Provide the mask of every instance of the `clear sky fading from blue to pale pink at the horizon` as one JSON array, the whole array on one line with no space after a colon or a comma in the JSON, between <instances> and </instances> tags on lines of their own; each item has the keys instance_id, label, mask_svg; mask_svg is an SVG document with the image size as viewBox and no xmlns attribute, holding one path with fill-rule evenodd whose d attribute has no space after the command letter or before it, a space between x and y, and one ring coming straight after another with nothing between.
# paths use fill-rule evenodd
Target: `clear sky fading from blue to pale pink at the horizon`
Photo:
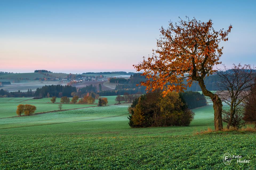
<instances>
[{"instance_id":1,"label":"clear sky fading from blue to pale pink at the horizon","mask_svg":"<svg viewBox=\"0 0 256 170\"><path fill-rule=\"evenodd\" d=\"M233 26L221 61L255 64L256 1L0 1L0 71L132 71L178 17ZM221 68L222 66L218 66Z\"/></svg>"}]
</instances>

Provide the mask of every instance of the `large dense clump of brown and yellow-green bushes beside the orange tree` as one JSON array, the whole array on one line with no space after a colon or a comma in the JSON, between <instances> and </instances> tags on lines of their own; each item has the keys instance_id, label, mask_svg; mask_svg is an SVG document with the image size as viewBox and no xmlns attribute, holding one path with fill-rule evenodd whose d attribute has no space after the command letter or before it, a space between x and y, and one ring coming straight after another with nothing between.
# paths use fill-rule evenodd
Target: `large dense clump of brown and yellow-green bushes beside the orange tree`
<instances>
[{"instance_id":1,"label":"large dense clump of brown and yellow-green bushes beside the orange tree","mask_svg":"<svg viewBox=\"0 0 256 170\"><path fill-rule=\"evenodd\" d=\"M194 113L176 92L165 97L161 91L141 95L128 110L131 127L188 126L194 118Z\"/></svg>"}]
</instances>

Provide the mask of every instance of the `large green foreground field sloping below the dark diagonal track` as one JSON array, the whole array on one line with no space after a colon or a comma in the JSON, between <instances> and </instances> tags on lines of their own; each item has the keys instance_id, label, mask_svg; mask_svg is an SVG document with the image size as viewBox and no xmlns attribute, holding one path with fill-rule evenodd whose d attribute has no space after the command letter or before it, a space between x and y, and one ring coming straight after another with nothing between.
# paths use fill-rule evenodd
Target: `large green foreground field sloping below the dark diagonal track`
<instances>
[{"instance_id":1,"label":"large green foreground field sloping below the dark diagonal track","mask_svg":"<svg viewBox=\"0 0 256 170\"><path fill-rule=\"evenodd\" d=\"M255 169L255 134L196 135L213 108L193 111L188 127L130 128L127 105L0 119L0 169Z\"/></svg>"}]
</instances>

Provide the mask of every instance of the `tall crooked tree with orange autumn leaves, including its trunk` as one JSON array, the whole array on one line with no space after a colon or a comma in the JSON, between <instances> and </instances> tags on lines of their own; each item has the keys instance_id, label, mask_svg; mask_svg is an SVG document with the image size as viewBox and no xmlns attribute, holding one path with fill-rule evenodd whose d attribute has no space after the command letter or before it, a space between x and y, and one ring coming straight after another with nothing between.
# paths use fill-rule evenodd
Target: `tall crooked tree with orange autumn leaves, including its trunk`
<instances>
[{"instance_id":1,"label":"tall crooked tree with orange autumn leaves, including its trunk","mask_svg":"<svg viewBox=\"0 0 256 170\"><path fill-rule=\"evenodd\" d=\"M215 130L222 130L221 99L206 89L204 77L216 72L214 65L221 64L223 47L219 43L228 40L232 26L227 31L215 31L211 19L201 22L186 18L170 22L167 29L162 27L152 57L143 57L141 63L133 66L147 78L140 85L146 86L147 91L162 89L164 96L171 91L183 92L194 81L198 82L203 94L213 101Z\"/></svg>"}]
</instances>

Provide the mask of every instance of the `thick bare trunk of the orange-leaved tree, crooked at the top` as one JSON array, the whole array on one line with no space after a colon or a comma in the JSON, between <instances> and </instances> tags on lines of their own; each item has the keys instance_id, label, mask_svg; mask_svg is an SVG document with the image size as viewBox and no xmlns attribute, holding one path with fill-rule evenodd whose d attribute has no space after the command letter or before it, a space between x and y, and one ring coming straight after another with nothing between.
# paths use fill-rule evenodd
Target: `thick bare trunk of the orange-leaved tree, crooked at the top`
<instances>
[{"instance_id":1,"label":"thick bare trunk of the orange-leaved tree, crooked at the top","mask_svg":"<svg viewBox=\"0 0 256 170\"><path fill-rule=\"evenodd\" d=\"M205 96L208 96L213 101L213 109L214 109L214 128L215 131L219 131L223 129L222 124L222 102L217 94L213 94L209 90L206 89L205 83L203 79L198 80L199 85L202 89L202 92Z\"/></svg>"}]
</instances>

